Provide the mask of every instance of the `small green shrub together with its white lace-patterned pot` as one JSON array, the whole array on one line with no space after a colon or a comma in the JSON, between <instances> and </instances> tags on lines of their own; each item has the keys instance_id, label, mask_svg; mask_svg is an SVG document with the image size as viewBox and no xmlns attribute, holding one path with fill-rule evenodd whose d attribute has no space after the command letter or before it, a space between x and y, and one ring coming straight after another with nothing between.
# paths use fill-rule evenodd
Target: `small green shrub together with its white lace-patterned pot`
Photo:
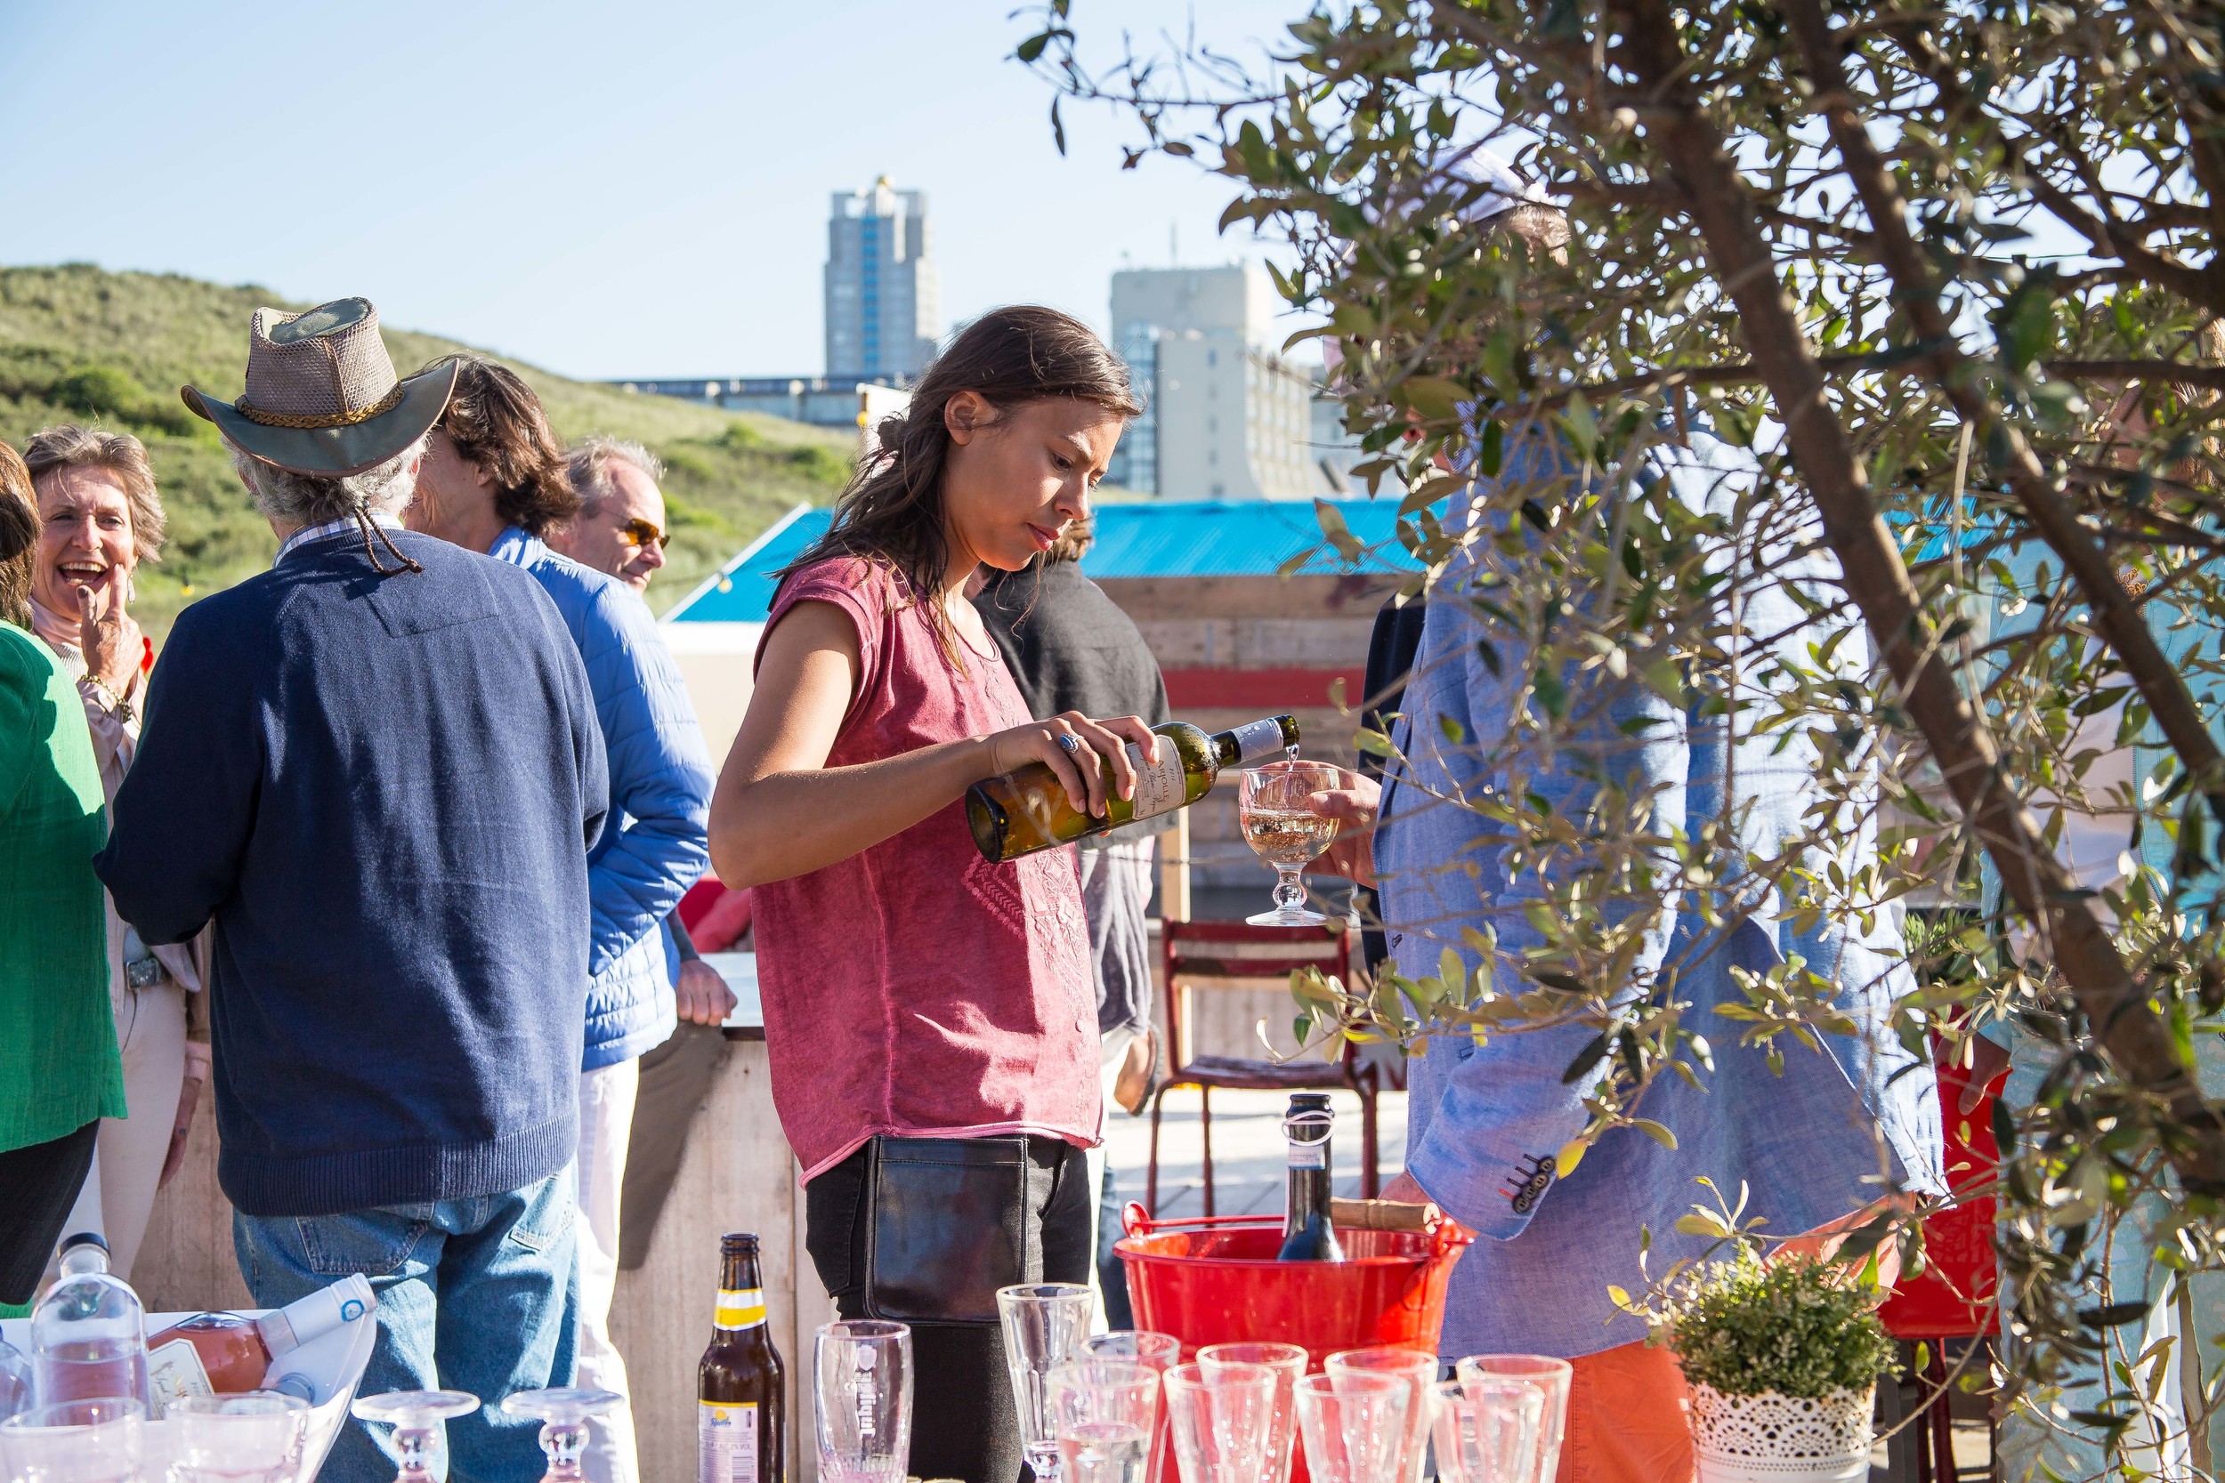
<instances>
[{"instance_id":1,"label":"small green shrub together with its white lace-patterned pot","mask_svg":"<svg viewBox=\"0 0 2225 1483\"><path fill-rule=\"evenodd\" d=\"M1893 1341L1878 1292L1811 1256L1695 1270L1658 1338L1691 1385L1700 1483L1862 1483Z\"/></svg>"}]
</instances>

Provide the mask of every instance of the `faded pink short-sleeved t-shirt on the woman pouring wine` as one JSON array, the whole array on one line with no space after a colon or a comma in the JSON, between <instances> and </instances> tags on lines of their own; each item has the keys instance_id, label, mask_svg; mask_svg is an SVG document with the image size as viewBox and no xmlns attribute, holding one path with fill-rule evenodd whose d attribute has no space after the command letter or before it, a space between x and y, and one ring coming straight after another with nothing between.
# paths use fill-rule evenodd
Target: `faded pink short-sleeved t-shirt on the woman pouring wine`
<instances>
[{"instance_id":1,"label":"faded pink short-sleeved t-shirt on the woman pouring wine","mask_svg":"<svg viewBox=\"0 0 2225 1483\"><path fill-rule=\"evenodd\" d=\"M797 603L832 603L857 625L857 696L828 767L1030 718L999 654L961 640L959 671L901 594L888 567L830 558L772 603L768 636ZM1097 1143L1097 996L1072 849L992 865L961 798L752 900L772 1103L803 1178L874 1134Z\"/></svg>"}]
</instances>

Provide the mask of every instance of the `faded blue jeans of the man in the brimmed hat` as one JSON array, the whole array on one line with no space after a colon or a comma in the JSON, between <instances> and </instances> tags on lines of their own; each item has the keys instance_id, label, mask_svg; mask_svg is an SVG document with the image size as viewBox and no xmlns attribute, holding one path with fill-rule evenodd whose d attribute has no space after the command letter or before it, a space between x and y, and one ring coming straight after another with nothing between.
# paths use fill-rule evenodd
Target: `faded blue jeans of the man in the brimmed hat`
<instances>
[{"instance_id":1,"label":"faded blue jeans of the man in the brimmed hat","mask_svg":"<svg viewBox=\"0 0 2225 1483\"><path fill-rule=\"evenodd\" d=\"M378 1294L378 1347L356 1394L465 1390L481 1399L447 1423L449 1483L538 1483L538 1432L503 1396L570 1385L574 1174L436 1205L338 1216L231 1216L231 1245L263 1307L363 1272ZM392 1483L387 1427L340 1427L323 1483Z\"/></svg>"}]
</instances>

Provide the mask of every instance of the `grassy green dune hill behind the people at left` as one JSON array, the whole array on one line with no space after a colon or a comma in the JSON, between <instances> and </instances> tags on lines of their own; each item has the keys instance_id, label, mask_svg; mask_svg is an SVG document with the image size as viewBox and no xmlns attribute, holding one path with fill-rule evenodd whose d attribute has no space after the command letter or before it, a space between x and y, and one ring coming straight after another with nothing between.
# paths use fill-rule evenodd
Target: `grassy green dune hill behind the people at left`
<instances>
[{"instance_id":1,"label":"grassy green dune hill behind the people at left","mask_svg":"<svg viewBox=\"0 0 2225 1483\"><path fill-rule=\"evenodd\" d=\"M140 567L134 614L154 634L198 594L269 565L276 543L254 511L216 429L178 402L191 382L240 391L247 322L269 289L220 287L174 273L109 273L87 265L0 269L0 438L16 447L49 422L100 422L147 442L169 545ZM409 376L465 345L380 325L394 367ZM728 556L799 500L825 505L850 474L854 436L781 418L632 396L510 362L541 394L565 440L636 438L668 467L672 563L650 587L656 609L683 598Z\"/></svg>"}]
</instances>

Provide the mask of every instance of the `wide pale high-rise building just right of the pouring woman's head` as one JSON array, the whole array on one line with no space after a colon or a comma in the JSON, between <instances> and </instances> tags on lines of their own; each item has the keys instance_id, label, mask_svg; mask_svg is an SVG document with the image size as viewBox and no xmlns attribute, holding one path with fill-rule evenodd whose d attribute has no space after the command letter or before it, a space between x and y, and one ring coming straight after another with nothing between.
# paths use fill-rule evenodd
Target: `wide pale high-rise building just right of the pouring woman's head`
<instances>
[{"instance_id":1,"label":"wide pale high-rise building just right of the pouring woman's head","mask_svg":"<svg viewBox=\"0 0 2225 1483\"><path fill-rule=\"evenodd\" d=\"M1313 449L1315 378L1273 347L1266 269L1112 273L1112 349L1144 400L1106 478L1177 500L1335 494Z\"/></svg>"}]
</instances>

